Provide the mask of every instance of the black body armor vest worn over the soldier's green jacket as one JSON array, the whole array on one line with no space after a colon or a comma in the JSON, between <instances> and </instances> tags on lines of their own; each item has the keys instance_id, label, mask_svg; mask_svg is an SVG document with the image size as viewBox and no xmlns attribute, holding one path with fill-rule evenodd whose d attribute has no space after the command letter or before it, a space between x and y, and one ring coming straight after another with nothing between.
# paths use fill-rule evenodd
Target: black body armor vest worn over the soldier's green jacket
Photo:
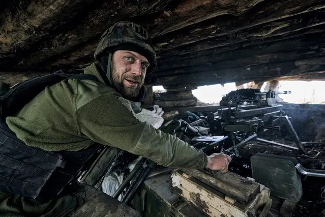
<instances>
[{"instance_id":1,"label":"black body armor vest worn over the soldier's green jacket","mask_svg":"<svg viewBox=\"0 0 325 217\"><path fill-rule=\"evenodd\" d=\"M68 78L98 80L94 75L65 74L60 70L19 83L0 97L0 192L47 202L76 180L101 151L99 144L76 152L44 151L25 145L6 124L6 117L20 111L47 86Z\"/></svg>"}]
</instances>

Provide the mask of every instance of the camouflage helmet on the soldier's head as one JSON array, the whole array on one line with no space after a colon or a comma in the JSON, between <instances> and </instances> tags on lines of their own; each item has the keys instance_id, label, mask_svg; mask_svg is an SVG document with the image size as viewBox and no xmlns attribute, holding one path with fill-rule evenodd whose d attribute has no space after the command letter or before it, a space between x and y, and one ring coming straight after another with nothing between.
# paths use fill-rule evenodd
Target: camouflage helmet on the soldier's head
<instances>
[{"instance_id":1,"label":"camouflage helmet on the soldier's head","mask_svg":"<svg viewBox=\"0 0 325 217\"><path fill-rule=\"evenodd\" d=\"M128 44L143 51L143 56L150 62L147 74L151 73L157 66L156 52L147 30L133 22L120 21L106 30L100 38L94 57L100 61L102 55Z\"/></svg>"}]
</instances>

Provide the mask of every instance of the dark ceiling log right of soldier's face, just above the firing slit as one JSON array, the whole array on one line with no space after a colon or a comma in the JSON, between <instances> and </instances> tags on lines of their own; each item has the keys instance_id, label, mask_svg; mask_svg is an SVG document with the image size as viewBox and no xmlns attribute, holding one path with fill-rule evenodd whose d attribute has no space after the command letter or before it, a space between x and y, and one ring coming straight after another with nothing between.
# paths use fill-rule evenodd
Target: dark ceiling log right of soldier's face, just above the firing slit
<instances>
[{"instance_id":1,"label":"dark ceiling log right of soldier's face, just above the firing slit","mask_svg":"<svg viewBox=\"0 0 325 217\"><path fill-rule=\"evenodd\" d=\"M300 60L307 58L317 58L323 56L321 52L321 47L325 45L319 41L319 37L325 37L324 35L317 35L317 38L309 39L314 40L304 42L302 39L296 40L284 40L277 43L264 44L263 46L251 46L245 49L230 50L219 52L216 50L202 52L200 57L178 57L178 61L175 58L165 59L170 62L160 62L158 68L156 69L156 74L159 76L164 76L167 73L164 71L170 71L171 69L179 69L188 66L197 65L211 65L215 64L218 68L234 68L238 66L245 66L248 64L260 64L269 62L279 62L279 61L289 61L289 60ZM292 41L296 43L292 43ZM317 46L315 46L315 42ZM319 43L318 43L319 42ZM283 46L281 46L283 45ZM217 64L216 64L217 63ZM232 65L231 65L232 64Z\"/></svg>"}]
</instances>

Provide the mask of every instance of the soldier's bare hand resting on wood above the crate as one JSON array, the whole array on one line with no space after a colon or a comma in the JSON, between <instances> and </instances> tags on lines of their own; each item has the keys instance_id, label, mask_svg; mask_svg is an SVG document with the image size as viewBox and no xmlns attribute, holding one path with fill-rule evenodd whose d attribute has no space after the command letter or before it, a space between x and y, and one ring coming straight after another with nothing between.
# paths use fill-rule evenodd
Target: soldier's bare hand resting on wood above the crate
<instances>
[{"instance_id":1,"label":"soldier's bare hand resting on wood above the crate","mask_svg":"<svg viewBox=\"0 0 325 217\"><path fill-rule=\"evenodd\" d=\"M208 156L208 164L206 164L206 168L227 172L230 161L231 157L229 155L224 153L214 153Z\"/></svg>"}]
</instances>

